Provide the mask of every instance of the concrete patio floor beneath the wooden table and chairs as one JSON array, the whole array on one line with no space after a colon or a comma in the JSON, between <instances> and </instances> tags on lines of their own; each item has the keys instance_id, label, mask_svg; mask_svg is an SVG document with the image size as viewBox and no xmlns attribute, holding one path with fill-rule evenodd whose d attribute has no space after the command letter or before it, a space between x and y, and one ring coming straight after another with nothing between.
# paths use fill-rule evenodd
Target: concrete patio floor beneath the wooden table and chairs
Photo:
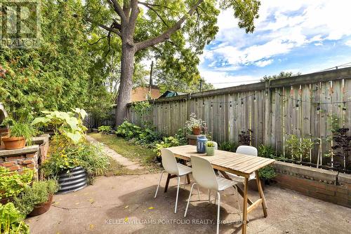
<instances>
[{"instance_id":1,"label":"concrete patio floor beneath the wooden table and chairs","mask_svg":"<svg viewBox=\"0 0 351 234\"><path fill-rule=\"evenodd\" d=\"M190 186L180 189L174 214L176 179L171 179L172 187L164 193L164 177L154 199L158 179L159 174L98 177L93 186L55 195L48 212L26 221L31 233L216 233L217 205L208 204L207 191L201 190L202 201L192 202L184 218ZM221 193L220 233L241 233L235 229L239 224L233 223L240 216L232 191ZM256 192L249 192L249 198L258 198ZM192 200L197 200L197 193L193 194ZM276 186L266 186L265 198L268 217L263 217L260 207L251 212L248 233L350 233L351 209L347 207Z\"/></svg>"}]
</instances>

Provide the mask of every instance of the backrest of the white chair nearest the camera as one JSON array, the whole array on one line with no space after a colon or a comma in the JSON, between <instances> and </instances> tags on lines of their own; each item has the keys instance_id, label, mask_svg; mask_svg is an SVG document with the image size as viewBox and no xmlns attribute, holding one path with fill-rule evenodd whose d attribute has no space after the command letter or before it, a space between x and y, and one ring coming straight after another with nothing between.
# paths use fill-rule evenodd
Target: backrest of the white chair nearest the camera
<instances>
[{"instance_id":1,"label":"backrest of the white chair nearest the camera","mask_svg":"<svg viewBox=\"0 0 351 234\"><path fill-rule=\"evenodd\" d=\"M218 181L215 171L208 160L198 156L191 156L192 160L192 177L203 188L209 188L218 191Z\"/></svg>"}]
</instances>

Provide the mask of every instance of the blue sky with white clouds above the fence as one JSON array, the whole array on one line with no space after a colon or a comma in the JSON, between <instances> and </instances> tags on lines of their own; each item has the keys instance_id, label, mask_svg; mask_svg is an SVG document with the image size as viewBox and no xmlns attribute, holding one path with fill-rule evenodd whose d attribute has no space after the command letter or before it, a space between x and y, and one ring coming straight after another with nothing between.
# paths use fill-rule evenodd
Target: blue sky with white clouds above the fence
<instances>
[{"instance_id":1,"label":"blue sky with white clouds above the fence","mask_svg":"<svg viewBox=\"0 0 351 234\"><path fill-rule=\"evenodd\" d=\"M347 64L350 9L351 0L261 0L253 34L239 29L232 10L222 11L216 39L200 57L200 75L224 88L280 71L308 74Z\"/></svg>"}]
</instances>

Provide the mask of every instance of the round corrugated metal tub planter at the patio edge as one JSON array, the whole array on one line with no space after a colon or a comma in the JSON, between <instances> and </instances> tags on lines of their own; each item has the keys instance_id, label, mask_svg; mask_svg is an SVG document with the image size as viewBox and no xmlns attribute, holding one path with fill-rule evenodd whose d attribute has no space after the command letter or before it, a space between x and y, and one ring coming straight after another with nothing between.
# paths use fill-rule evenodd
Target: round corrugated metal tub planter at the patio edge
<instances>
[{"instance_id":1,"label":"round corrugated metal tub planter at the patio edge","mask_svg":"<svg viewBox=\"0 0 351 234\"><path fill-rule=\"evenodd\" d=\"M88 185L88 173L83 167L74 167L68 173L65 171L58 175L58 184L58 194L79 191Z\"/></svg>"}]
</instances>

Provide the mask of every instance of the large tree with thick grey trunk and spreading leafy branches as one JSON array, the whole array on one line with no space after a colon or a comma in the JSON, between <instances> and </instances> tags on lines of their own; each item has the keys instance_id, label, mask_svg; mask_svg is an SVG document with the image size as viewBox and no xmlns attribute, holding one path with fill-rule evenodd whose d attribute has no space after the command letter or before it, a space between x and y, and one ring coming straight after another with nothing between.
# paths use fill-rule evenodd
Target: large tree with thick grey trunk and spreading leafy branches
<instances>
[{"instance_id":1,"label":"large tree with thick grey trunk and spreading leafy branches","mask_svg":"<svg viewBox=\"0 0 351 234\"><path fill-rule=\"evenodd\" d=\"M253 20L258 18L258 0L86 0L84 18L93 26L107 30L107 37L121 40L121 78L117 97L116 123L126 118L126 104L131 100L135 57L143 57L145 50L154 53L167 41L173 48L194 55L216 36L218 7L233 8L238 26L253 32ZM164 44L165 45L165 44ZM172 57L182 57L174 50Z\"/></svg>"}]
</instances>

